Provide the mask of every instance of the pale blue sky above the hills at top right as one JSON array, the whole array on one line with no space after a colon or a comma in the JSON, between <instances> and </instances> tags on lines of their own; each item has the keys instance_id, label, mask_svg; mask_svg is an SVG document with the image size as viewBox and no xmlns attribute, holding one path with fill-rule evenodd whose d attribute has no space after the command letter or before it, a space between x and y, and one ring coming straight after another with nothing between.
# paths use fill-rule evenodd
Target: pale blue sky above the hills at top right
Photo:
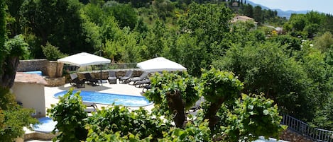
<instances>
[{"instance_id":1,"label":"pale blue sky above the hills at top right","mask_svg":"<svg viewBox=\"0 0 333 142\"><path fill-rule=\"evenodd\" d=\"M279 8L283 11L319 11L333 14L332 0L250 0L268 8Z\"/></svg>"}]
</instances>

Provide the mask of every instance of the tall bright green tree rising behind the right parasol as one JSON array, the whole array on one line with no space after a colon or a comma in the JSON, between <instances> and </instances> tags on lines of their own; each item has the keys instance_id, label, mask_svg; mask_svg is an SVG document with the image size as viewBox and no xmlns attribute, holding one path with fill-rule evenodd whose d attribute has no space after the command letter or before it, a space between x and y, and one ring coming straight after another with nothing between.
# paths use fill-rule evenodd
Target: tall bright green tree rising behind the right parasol
<instances>
[{"instance_id":1,"label":"tall bright green tree rising behind the right parasol","mask_svg":"<svg viewBox=\"0 0 333 142\"><path fill-rule=\"evenodd\" d=\"M180 31L195 39L192 45L199 47L201 59L191 64L209 69L211 62L229 48L226 39L231 17L231 10L222 4L190 4L189 11L180 18ZM200 70L192 71L192 75L200 76Z\"/></svg>"}]
</instances>

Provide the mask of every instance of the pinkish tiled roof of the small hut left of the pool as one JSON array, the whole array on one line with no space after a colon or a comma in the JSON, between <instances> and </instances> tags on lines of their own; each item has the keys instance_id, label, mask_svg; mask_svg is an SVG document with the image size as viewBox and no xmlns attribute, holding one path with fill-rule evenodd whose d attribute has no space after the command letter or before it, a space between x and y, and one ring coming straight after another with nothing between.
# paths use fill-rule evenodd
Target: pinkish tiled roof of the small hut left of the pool
<instances>
[{"instance_id":1,"label":"pinkish tiled roof of the small hut left of the pool","mask_svg":"<svg viewBox=\"0 0 333 142\"><path fill-rule=\"evenodd\" d=\"M36 83L36 84L48 84L43 76L39 76L38 74L28 74L17 72L15 76L16 83Z\"/></svg>"}]
</instances>

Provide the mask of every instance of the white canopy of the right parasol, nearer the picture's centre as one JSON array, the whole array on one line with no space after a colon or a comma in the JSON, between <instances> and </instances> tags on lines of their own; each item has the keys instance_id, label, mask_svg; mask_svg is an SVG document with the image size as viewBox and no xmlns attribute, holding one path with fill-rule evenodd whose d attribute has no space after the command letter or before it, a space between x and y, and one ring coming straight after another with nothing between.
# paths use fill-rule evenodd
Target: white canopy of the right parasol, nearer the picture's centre
<instances>
[{"instance_id":1,"label":"white canopy of the right parasol, nearer the picture's centre","mask_svg":"<svg viewBox=\"0 0 333 142\"><path fill-rule=\"evenodd\" d=\"M157 57L142 61L136 65L140 69L146 72L157 72L157 71L186 71L186 68L181 64L174 61L170 61L163 57Z\"/></svg>"}]
</instances>

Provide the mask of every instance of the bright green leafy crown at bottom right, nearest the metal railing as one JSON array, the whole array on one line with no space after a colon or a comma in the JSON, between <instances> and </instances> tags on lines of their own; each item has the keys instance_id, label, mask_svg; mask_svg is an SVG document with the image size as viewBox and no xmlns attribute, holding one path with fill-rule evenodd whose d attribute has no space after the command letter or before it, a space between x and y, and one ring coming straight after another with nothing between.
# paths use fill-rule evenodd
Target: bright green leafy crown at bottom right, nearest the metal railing
<instances>
[{"instance_id":1,"label":"bright green leafy crown at bottom right, nearest the metal railing","mask_svg":"<svg viewBox=\"0 0 333 142\"><path fill-rule=\"evenodd\" d=\"M223 141L255 141L259 136L279 138L286 129L273 100L263 95L242 94L226 114L221 126Z\"/></svg>"}]
</instances>

